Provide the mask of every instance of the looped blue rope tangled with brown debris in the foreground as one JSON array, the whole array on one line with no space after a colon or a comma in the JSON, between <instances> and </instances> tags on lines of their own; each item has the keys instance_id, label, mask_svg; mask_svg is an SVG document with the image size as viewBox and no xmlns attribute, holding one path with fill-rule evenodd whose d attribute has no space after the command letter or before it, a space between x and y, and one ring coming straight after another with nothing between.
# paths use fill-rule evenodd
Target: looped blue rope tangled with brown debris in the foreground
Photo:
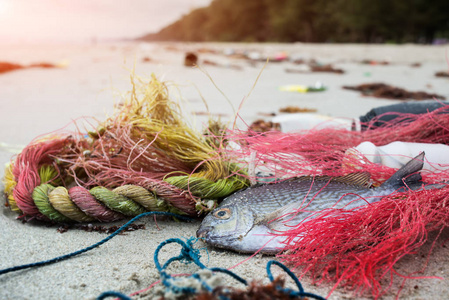
<instances>
[{"instance_id":1,"label":"looped blue rope tangled with brown debris in the foreground","mask_svg":"<svg viewBox=\"0 0 449 300\"><path fill-rule=\"evenodd\" d=\"M154 261L159 271L161 282L164 287L155 291L155 294L163 299L292 299L308 297L310 299L323 300L324 298L304 291L298 278L286 266L277 261L271 260L267 263L266 271L270 284L263 285L253 281L251 284L247 280L224 268L206 267L201 261L198 249L193 247L194 239L190 238L186 242L181 239L168 239L158 246L154 253ZM177 243L182 249L180 255L172 257L163 265L159 262L158 254L165 245ZM175 261L194 263L200 268L199 271L186 277L173 277L167 272L167 268ZM289 277L293 279L297 290L284 288L284 281L280 277L274 279L271 273L271 266L276 265L281 268ZM248 289L239 289L234 286L224 285L217 274L224 274L240 282Z\"/></svg>"}]
</instances>

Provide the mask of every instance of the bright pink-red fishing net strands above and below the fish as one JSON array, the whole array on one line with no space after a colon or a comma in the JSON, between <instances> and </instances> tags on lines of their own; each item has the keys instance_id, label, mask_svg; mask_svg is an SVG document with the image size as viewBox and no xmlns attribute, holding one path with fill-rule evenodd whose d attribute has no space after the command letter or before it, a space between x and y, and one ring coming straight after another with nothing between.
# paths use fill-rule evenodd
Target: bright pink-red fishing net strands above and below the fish
<instances>
[{"instance_id":1,"label":"bright pink-red fishing net strands above and below the fish","mask_svg":"<svg viewBox=\"0 0 449 300\"><path fill-rule=\"evenodd\" d=\"M263 170L271 180L278 180L369 172L372 184L378 186L396 170L370 162L353 147L364 141L376 146L393 141L449 145L448 113L449 106L443 106L423 115L402 114L379 128L362 132L330 128L295 134L234 131L227 138L245 145L229 151L234 157L251 157L249 174ZM369 128L370 124L366 125ZM423 181L447 182L448 166L449 161L435 172L421 171ZM393 278L422 278L401 274L396 263L429 243L430 232L439 236L449 225L448 201L449 187L443 187L408 190L352 210L329 208L279 232L286 241L278 257L315 283L331 282L334 289L346 286L378 298L388 291ZM422 265L421 271L426 261Z\"/></svg>"}]
</instances>

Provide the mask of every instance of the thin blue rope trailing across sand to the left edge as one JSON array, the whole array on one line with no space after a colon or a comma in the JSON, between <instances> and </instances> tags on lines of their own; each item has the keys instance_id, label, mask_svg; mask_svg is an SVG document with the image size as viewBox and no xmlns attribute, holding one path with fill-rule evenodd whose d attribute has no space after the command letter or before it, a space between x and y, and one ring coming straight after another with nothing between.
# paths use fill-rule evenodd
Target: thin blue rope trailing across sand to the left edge
<instances>
[{"instance_id":1,"label":"thin blue rope trailing across sand to the left edge","mask_svg":"<svg viewBox=\"0 0 449 300\"><path fill-rule=\"evenodd\" d=\"M20 266L15 266L15 267L3 269L3 270L0 270L0 275L6 274L6 273L10 273L10 272L14 272L14 271L23 270L23 269L29 269L29 268L41 267L41 266L53 264L53 263L56 263L56 262L59 262L59 261L63 261L63 260L69 259L69 258L74 257L76 255L82 254L84 252L90 251L90 250L92 250L94 248L97 248L97 247L103 245L104 243L106 243L107 241L109 241L110 239L112 239L113 237L118 235L120 232L125 230L126 227L128 227L129 225L131 225L132 223L134 223L138 219L143 218L145 216L150 216L150 215L172 216L172 217L175 217L175 218L178 218L178 219L181 219L181 220L186 220L186 221L191 221L192 220L189 217L185 217L185 216L181 216L181 215L173 214L173 213L169 213L169 212L161 212L161 211L146 212L146 213L140 214L140 215L134 217L133 219L129 220L125 225L123 225L122 227L117 229L114 233L112 233L111 235L107 236L106 238L104 238L103 240L99 241L98 243L93 244L92 246L86 247L84 249L81 249L81 250L78 250L78 251L75 251L75 252L72 252L72 253L69 253L69 254L66 254L66 255L58 256L58 257L55 257L53 259L49 259L49 260L44 260L44 261L40 261L40 262L36 262L36 263L31 263L31 264L20 265Z\"/></svg>"}]
</instances>

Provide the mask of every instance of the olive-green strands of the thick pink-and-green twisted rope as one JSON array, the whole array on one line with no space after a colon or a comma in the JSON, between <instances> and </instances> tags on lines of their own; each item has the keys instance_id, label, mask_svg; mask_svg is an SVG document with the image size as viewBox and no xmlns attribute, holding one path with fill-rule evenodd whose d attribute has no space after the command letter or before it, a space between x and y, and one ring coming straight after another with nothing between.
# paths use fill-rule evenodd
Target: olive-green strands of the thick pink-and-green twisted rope
<instances>
[{"instance_id":1,"label":"olive-green strands of the thick pink-and-green twisted rope","mask_svg":"<svg viewBox=\"0 0 449 300\"><path fill-rule=\"evenodd\" d=\"M40 170L42 182L54 178L55 170L48 166ZM45 181L44 181L45 180ZM225 197L236 190L246 187L246 180L242 177L232 176L220 179L216 182L195 176L173 176L164 180L168 184L179 189L189 191L192 195L200 197L198 207L199 212L207 212L216 205L216 200ZM109 209L122 213L125 216L137 216L147 211L173 211L180 213L164 200L159 199L153 192L136 185L124 185L109 190L105 187L94 187L90 194ZM93 218L85 215L73 203L67 190L60 186L55 188L50 184L37 186L32 198L39 211L55 222L89 222Z\"/></svg>"}]
</instances>

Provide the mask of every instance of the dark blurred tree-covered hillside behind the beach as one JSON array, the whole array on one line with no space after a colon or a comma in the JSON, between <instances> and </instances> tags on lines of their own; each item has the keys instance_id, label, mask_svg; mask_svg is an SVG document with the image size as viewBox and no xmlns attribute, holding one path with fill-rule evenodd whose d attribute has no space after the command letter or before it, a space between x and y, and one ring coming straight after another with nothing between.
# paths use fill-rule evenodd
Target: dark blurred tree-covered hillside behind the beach
<instances>
[{"instance_id":1,"label":"dark blurred tree-covered hillside behind the beach","mask_svg":"<svg viewBox=\"0 0 449 300\"><path fill-rule=\"evenodd\" d=\"M449 0L214 0L144 40L430 43Z\"/></svg>"}]
</instances>

